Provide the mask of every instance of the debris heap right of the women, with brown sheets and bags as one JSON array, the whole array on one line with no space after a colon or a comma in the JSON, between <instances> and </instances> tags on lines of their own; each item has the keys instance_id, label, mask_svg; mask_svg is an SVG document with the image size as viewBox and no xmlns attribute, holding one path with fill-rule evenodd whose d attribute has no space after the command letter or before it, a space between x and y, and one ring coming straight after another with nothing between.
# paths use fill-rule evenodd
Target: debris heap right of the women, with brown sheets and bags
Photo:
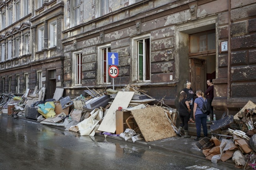
<instances>
[{"instance_id":1,"label":"debris heap right of the women, with brown sheets and bags","mask_svg":"<svg viewBox=\"0 0 256 170\"><path fill-rule=\"evenodd\" d=\"M210 127L212 138L196 143L211 162L232 159L238 168L256 169L256 105L252 101L235 116L223 114Z\"/></svg>"}]
</instances>

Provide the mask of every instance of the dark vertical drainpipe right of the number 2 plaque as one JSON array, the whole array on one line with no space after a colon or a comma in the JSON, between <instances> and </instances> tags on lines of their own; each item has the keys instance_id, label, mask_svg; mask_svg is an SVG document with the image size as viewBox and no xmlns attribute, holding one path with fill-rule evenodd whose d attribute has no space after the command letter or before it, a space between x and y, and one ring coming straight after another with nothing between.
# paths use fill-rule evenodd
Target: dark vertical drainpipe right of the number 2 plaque
<instances>
[{"instance_id":1,"label":"dark vertical drainpipe right of the number 2 plaque","mask_svg":"<svg viewBox=\"0 0 256 170\"><path fill-rule=\"evenodd\" d=\"M231 0L228 0L227 102L231 97ZM227 115L229 111L227 108Z\"/></svg>"}]
</instances>

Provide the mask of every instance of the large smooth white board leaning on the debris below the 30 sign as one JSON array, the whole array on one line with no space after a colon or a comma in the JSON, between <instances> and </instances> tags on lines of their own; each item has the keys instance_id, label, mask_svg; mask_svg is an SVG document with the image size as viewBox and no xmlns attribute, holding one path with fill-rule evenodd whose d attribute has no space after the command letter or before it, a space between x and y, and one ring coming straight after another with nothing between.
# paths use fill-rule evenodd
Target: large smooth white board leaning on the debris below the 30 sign
<instances>
[{"instance_id":1,"label":"large smooth white board leaning on the debris below the 30 sign","mask_svg":"<svg viewBox=\"0 0 256 170\"><path fill-rule=\"evenodd\" d=\"M132 100L134 92L131 91L118 91L117 96L109 107L98 131L105 131L115 133L116 131L116 110L118 107L127 108Z\"/></svg>"}]
</instances>

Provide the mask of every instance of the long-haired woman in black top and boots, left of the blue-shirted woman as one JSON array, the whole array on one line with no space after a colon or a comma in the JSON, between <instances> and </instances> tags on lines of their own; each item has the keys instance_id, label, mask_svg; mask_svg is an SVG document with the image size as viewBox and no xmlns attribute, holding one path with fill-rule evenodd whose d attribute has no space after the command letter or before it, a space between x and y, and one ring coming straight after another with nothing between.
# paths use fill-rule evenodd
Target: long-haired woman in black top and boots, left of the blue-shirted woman
<instances>
[{"instance_id":1,"label":"long-haired woman in black top and boots, left of the blue-shirted woman","mask_svg":"<svg viewBox=\"0 0 256 170\"><path fill-rule=\"evenodd\" d=\"M191 110L190 110L190 106L189 106L186 96L187 96L187 94L185 92L182 92L180 94L180 98L179 98L179 115L180 115L180 119L182 122L180 124L177 135L181 137L180 132L181 132L182 128L184 127L184 132L185 132L184 137L188 138L188 137L190 137L190 136L188 136L188 120L189 120Z\"/></svg>"}]
</instances>

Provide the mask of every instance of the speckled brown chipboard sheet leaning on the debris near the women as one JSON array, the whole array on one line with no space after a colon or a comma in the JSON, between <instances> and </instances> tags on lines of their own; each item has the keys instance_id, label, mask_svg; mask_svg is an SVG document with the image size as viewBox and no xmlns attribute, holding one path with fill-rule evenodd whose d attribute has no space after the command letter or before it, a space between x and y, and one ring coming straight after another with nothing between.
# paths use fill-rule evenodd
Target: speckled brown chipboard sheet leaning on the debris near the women
<instances>
[{"instance_id":1,"label":"speckled brown chipboard sheet leaning on the debris near the women","mask_svg":"<svg viewBox=\"0 0 256 170\"><path fill-rule=\"evenodd\" d=\"M146 142L176 136L162 107L147 107L131 110Z\"/></svg>"}]
</instances>

